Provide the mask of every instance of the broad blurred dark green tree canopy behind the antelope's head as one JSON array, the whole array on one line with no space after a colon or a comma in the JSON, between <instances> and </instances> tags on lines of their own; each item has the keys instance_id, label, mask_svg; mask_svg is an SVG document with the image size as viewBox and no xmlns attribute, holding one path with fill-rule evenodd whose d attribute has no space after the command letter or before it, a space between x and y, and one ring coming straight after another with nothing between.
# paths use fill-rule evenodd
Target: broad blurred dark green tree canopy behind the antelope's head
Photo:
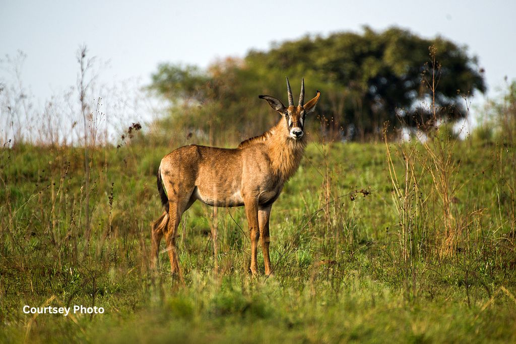
<instances>
[{"instance_id":1,"label":"broad blurred dark green tree canopy behind the antelope's head","mask_svg":"<svg viewBox=\"0 0 516 344\"><path fill-rule=\"evenodd\" d=\"M295 80L304 77L307 95L316 89L322 92L318 113L329 120L332 134L364 139L379 135L386 121L425 129L433 118L428 105L433 96L438 119L466 116L462 96L486 91L482 72L465 46L442 37L426 39L397 27L381 32L365 27L361 33L273 44L243 59L217 61L206 71L162 64L150 88L175 104L175 125L206 133L208 125L224 124L218 132L230 130L246 137L276 120L256 95L284 99L285 75L294 90ZM432 78L437 85L434 94L428 87Z\"/></svg>"}]
</instances>

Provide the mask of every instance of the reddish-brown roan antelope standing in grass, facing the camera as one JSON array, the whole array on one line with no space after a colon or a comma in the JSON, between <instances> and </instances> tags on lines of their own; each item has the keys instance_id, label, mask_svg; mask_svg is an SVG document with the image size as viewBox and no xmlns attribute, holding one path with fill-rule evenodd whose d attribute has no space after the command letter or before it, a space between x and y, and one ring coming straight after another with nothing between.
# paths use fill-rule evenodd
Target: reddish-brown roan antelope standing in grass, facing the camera
<instances>
[{"instance_id":1,"label":"reddish-brown roan antelope standing in grass, facing the camera","mask_svg":"<svg viewBox=\"0 0 516 344\"><path fill-rule=\"evenodd\" d=\"M196 200L214 207L244 206L251 236L251 273L256 275L257 244L261 240L265 274L271 273L269 217L283 185L299 167L307 145L305 116L315 110L320 92L304 103L301 81L299 105L294 106L287 78L288 106L270 95L260 95L282 118L260 136L241 142L236 149L190 144L167 154L157 173L163 214L152 224L152 265L158 260L159 242L165 236L172 274L179 273L175 238L183 212ZM164 187L166 193L164 191Z\"/></svg>"}]
</instances>

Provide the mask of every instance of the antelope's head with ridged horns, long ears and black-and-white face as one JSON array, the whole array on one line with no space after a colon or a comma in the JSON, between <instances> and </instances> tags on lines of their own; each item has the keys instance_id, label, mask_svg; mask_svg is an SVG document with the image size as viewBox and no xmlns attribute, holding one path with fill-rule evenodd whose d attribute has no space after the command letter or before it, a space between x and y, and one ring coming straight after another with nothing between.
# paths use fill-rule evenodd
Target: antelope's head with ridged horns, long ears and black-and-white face
<instances>
[{"instance_id":1,"label":"antelope's head with ridged horns, long ears and black-and-white face","mask_svg":"<svg viewBox=\"0 0 516 344\"><path fill-rule=\"evenodd\" d=\"M288 93L288 106L276 97L270 95L259 95L260 99L265 99L271 108L278 111L281 116L284 117L288 135L294 140L299 140L303 135L304 118L308 113L315 110L315 105L319 100L321 92L317 91L317 95L313 97L308 103L304 103L304 79L301 80L301 94L299 95L299 104L294 106L294 97L292 96L292 89L287 79L287 93Z\"/></svg>"}]
</instances>

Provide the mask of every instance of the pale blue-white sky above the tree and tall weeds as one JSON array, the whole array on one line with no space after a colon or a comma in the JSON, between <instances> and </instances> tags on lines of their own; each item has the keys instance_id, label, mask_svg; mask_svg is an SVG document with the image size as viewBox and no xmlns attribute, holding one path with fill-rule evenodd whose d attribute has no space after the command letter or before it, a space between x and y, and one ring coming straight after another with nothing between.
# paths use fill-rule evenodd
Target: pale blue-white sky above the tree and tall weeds
<instances>
[{"instance_id":1,"label":"pale blue-white sky above the tree and tall weeds","mask_svg":"<svg viewBox=\"0 0 516 344\"><path fill-rule=\"evenodd\" d=\"M273 41L360 31L363 25L438 34L479 58L489 94L516 78L513 1L7 1L0 0L0 57L27 54L23 81L37 99L74 86L77 48L110 61L105 82L140 77L159 62L206 67ZM0 79L6 77L0 71ZM279 80L279 82L283 82ZM477 100L478 101L478 100Z\"/></svg>"}]
</instances>

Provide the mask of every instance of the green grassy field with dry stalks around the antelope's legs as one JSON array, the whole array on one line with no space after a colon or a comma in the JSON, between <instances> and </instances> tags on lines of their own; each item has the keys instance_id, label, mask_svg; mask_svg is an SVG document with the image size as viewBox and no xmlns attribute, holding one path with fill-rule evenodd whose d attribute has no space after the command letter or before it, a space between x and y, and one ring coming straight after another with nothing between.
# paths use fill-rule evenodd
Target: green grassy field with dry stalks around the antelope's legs
<instances>
[{"instance_id":1,"label":"green grassy field with dry stalks around the antelope's legs","mask_svg":"<svg viewBox=\"0 0 516 344\"><path fill-rule=\"evenodd\" d=\"M395 152L407 146L391 149L404 176ZM184 286L170 276L166 253L158 276L148 268L149 224L162 211L154 173L170 148L136 142L95 151L88 249L84 152L29 145L4 151L0 342L516 341L512 146L456 145L460 168L451 180L461 234L447 256L438 254L442 205L421 165L416 174L426 201L406 210L414 216L406 244L385 145L332 144L326 157L321 150L309 145L272 207L272 277L248 273L241 208L219 209L215 273L211 208L196 203L178 243ZM370 194L353 193L362 189ZM24 305L49 299L106 312L23 314Z\"/></svg>"}]
</instances>

